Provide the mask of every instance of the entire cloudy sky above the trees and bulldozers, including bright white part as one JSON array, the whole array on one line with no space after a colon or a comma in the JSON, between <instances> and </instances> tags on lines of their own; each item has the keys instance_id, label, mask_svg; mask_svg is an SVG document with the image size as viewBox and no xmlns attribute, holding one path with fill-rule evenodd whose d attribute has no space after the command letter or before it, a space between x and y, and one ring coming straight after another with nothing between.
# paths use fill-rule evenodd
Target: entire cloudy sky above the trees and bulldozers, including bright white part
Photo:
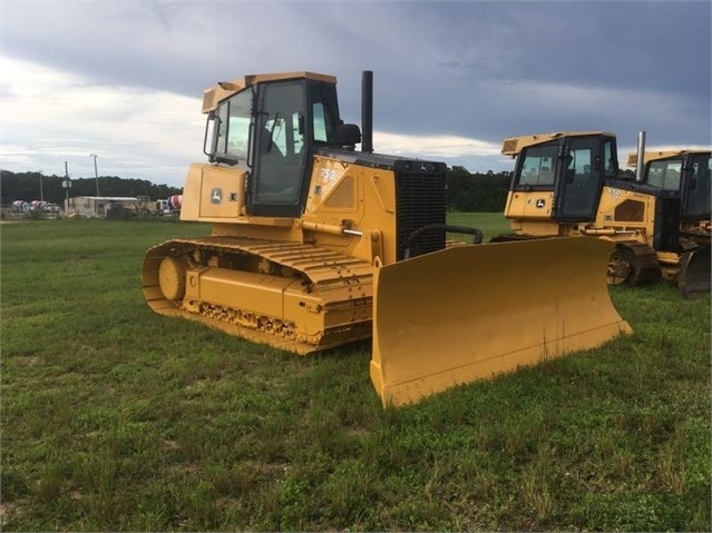
<instances>
[{"instance_id":1,"label":"entire cloudy sky above the trees and bulldozers, including bright white part","mask_svg":"<svg viewBox=\"0 0 712 533\"><path fill-rule=\"evenodd\" d=\"M182 186L204 161L203 90L244 75L339 79L375 151L510 170L514 135L606 130L622 164L709 147L709 0L0 1L0 168Z\"/></svg>"}]
</instances>

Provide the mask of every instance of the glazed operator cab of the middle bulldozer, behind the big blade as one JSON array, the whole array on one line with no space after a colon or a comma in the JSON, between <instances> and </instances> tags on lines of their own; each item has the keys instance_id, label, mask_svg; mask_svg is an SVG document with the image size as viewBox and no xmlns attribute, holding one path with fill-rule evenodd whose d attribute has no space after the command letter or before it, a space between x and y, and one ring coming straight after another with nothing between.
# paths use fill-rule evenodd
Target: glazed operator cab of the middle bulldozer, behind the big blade
<instances>
[{"instance_id":1,"label":"glazed operator cab of the middle bulldozer, behind the big blade","mask_svg":"<svg viewBox=\"0 0 712 533\"><path fill-rule=\"evenodd\" d=\"M517 158L513 193L552 193L552 205L547 206L546 199L537 199L534 215L529 211L528 218L593 220L605 180L617 175L616 141L611 134L550 134L506 139L503 154ZM505 214L510 215L516 216Z\"/></svg>"}]
</instances>

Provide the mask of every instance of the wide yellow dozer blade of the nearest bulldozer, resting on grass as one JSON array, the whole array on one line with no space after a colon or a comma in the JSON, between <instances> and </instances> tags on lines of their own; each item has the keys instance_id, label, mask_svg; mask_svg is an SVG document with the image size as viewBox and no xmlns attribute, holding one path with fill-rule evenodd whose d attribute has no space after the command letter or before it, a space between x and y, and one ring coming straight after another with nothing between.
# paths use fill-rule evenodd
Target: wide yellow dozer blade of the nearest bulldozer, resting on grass
<instances>
[{"instance_id":1,"label":"wide yellow dozer blade of the nearest bulldozer, resting on grass","mask_svg":"<svg viewBox=\"0 0 712 533\"><path fill-rule=\"evenodd\" d=\"M631 326L594 237L453 247L375 275L371 381L383 405L593 348Z\"/></svg>"}]
</instances>

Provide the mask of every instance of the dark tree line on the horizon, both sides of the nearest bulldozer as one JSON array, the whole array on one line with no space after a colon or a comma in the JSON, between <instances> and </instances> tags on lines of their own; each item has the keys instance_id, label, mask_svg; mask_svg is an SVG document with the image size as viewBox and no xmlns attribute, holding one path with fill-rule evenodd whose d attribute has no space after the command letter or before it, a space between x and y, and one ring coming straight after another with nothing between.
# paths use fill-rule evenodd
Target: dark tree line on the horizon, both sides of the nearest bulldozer
<instances>
[{"instance_id":1,"label":"dark tree line on the horizon, both sides of the nearest bulldozer","mask_svg":"<svg viewBox=\"0 0 712 533\"><path fill-rule=\"evenodd\" d=\"M452 211L501 211L505 208L511 172L470 174L465 167L448 168L446 175L446 203ZM41 172L11 172L0 170L0 201L39 200L64 205L66 189L62 176L45 176ZM41 190L40 190L41 187ZM99 176L99 196L148 196L156 200L181 194L181 189L156 185L146 179L126 179L118 176ZM71 180L69 197L97 196L96 178Z\"/></svg>"}]
</instances>

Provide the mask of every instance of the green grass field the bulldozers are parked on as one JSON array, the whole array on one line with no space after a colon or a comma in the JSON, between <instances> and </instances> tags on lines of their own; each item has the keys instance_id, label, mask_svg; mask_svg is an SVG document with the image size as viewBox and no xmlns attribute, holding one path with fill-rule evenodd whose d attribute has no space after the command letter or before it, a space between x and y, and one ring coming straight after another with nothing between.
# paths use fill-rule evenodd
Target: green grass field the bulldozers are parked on
<instances>
[{"instance_id":1,"label":"green grass field the bulldozers are parked on","mask_svg":"<svg viewBox=\"0 0 712 533\"><path fill-rule=\"evenodd\" d=\"M0 226L3 531L710 531L709 297L615 287L633 336L383 409L368 343L148 309L145 250L207 231Z\"/></svg>"}]
</instances>

